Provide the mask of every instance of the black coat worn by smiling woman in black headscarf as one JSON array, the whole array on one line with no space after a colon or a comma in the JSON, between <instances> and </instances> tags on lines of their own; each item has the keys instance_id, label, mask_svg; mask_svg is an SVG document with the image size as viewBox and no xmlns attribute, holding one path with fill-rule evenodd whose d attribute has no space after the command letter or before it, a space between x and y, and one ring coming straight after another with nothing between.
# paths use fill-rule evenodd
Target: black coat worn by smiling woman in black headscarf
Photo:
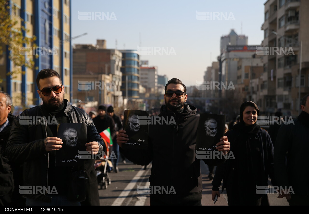
<instances>
[{"instance_id":1,"label":"black coat worn by smiling woman in black headscarf","mask_svg":"<svg viewBox=\"0 0 309 214\"><path fill-rule=\"evenodd\" d=\"M240 129L232 129L226 132L231 145L229 153L233 152L234 157L216 168L212 181L212 190L218 191L223 179L222 191L226 188L229 205L246 205L244 202L246 200L248 203L255 203L256 198L259 197L255 195L255 185L265 187L268 186L268 176L274 179L273 145L267 131L260 128L257 134L248 135L250 146L252 146L252 153L249 157L252 157L252 154L258 157L256 160L252 160L256 164L253 171L253 175L256 176L244 174L243 172L247 170L238 168L240 166L238 162L243 158L239 157L242 153L235 151L235 148L237 148L237 144L244 145L243 143L240 144L240 139L243 137L241 135ZM231 156L229 155L229 157ZM254 198L251 197L252 195Z\"/></svg>"}]
</instances>

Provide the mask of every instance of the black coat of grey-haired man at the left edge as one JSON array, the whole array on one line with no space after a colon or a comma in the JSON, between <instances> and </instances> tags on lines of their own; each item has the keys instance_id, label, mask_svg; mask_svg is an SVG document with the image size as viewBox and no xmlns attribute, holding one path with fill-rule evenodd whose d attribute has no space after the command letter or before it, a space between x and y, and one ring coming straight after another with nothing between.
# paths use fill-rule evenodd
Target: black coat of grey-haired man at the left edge
<instances>
[{"instance_id":1,"label":"black coat of grey-haired man at the left edge","mask_svg":"<svg viewBox=\"0 0 309 214\"><path fill-rule=\"evenodd\" d=\"M7 118L9 125L0 132L0 198L4 195L11 195L14 189L13 171L11 169L11 163L6 157L5 149L13 121L16 117L9 113ZM12 195L8 199L11 199L11 197ZM10 203L10 201L6 201L6 203Z\"/></svg>"}]
</instances>

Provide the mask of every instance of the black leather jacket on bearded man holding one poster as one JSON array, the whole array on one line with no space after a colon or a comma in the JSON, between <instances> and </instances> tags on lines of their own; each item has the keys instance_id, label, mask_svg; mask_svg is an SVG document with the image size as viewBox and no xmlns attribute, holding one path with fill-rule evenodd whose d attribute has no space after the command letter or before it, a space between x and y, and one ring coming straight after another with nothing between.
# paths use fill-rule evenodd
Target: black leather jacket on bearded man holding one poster
<instances>
[{"instance_id":1,"label":"black leather jacket on bearded man holding one poster","mask_svg":"<svg viewBox=\"0 0 309 214\"><path fill-rule=\"evenodd\" d=\"M99 143L99 151L105 150L104 142L88 114L83 109L71 106L66 99L64 99L64 102L66 104L64 113L68 117L68 122L86 123L87 142L96 141ZM19 123L19 117L43 115L42 106L36 106L23 111L13 123L6 146L6 154L10 161L25 162L23 185L26 186L48 186L49 155L51 152L46 152L44 138L52 136L47 136L46 124L21 125ZM93 160L86 160L84 170L88 173L88 181L90 180L90 182L95 183L96 177L92 163ZM44 195L26 196L50 203L50 198Z\"/></svg>"}]
</instances>

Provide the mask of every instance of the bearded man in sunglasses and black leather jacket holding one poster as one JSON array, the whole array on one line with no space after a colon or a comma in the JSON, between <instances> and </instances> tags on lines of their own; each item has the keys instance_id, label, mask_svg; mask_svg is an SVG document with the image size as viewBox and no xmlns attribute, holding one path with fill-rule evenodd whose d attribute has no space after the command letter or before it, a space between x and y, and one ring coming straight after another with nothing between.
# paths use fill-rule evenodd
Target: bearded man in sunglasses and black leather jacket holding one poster
<instances>
[{"instance_id":1,"label":"bearded man in sunglasses and black leather jacket holding one poster","mask_svg":"<svg viewBox=\"0 0 309 214\"><path fill-rule=\"evenodd\" d=\"M64 86L59 74L53 69L44 69L36 78L37 92L43 105L26 109L14 121L7 143L7 154L11 161L25 162L24 183L20 185L39 186L57 190L56 195L44 191L33 192L26 196L26 205L80 205L80 202L69 201L67 198L72 167L55 166L56 151L61 150L64 139L57 138L57 124L86 123L87 143L85 149L97 154L105 145L100 138L93 121L88 114L77 107L71 106L64 99ZM29 125L21 123L22 118L33 118ZM45 117L43 122L35 117ZM53 118L52 120L50 120ZM57 121L53 124L48 121ZM82 204L99 205L97 180L94 160L86 160L82 169L88 174L87 198Z\"/></svg>"}]
</instances>

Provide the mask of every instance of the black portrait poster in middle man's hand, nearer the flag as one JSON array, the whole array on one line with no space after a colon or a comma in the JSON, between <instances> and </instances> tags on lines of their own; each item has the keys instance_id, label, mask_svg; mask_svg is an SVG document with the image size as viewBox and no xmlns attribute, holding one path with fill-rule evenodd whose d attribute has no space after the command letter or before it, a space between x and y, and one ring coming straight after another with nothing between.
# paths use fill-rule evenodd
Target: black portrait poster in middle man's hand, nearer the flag
<instances>
[{"instance_id":1,"label":"black portrait poster in middle man's hand, nearer the flag","mask_svg":"<svg viewBox=\"0 0 309 214\"><path fill-rule=\"evenodd\" d=\"M150 124L150 117L147 111L125 110L124 130L129 136L129 141L123 143L122 148L147 149L148 124Z\"/></svg>"}]
</instances>

